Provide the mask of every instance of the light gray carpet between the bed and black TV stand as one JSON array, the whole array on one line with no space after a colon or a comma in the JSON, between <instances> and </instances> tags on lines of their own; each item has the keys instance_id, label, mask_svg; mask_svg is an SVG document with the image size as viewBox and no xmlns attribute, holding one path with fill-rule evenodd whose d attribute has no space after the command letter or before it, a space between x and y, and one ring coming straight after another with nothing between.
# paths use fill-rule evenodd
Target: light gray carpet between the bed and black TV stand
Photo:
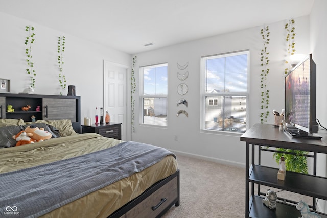
<instances>
[{"instance_id":1,"label":"light gray carpet between the bed and black TV stand","mask_svg":"<svg viewBox=\"0 0 327 218\"><path fill-rule=\"evenodd\" d=\"M245 169L177 156L180 205L163 216L245 217Z\"/></svg>"}]
</instances>

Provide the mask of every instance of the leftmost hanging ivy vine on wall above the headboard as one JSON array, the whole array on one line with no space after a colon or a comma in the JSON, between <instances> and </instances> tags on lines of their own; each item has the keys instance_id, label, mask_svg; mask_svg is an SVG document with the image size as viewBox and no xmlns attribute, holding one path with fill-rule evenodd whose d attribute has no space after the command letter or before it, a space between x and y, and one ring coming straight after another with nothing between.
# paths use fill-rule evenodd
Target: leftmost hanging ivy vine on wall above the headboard
<instances>
[{"instance_id":1,"label":"leftmost hanging ivy vine on wall above the headboard","mask_svg":"<svg viewBox=\"0 0 327 218\"><path fill-rule=\"evenodd\" d=\"M35 78L36 76L35 70L34 70L34 63L32 62L32 44L34 44L34 27L26 26L25 31L28 32L28 36L25 39L25 44L27 45L25 49L25 54L27 56L26 62L28 65L28 68L26 69L27 74L31 76L31 87L35 88Z\"/></svg>"}]
</instances>

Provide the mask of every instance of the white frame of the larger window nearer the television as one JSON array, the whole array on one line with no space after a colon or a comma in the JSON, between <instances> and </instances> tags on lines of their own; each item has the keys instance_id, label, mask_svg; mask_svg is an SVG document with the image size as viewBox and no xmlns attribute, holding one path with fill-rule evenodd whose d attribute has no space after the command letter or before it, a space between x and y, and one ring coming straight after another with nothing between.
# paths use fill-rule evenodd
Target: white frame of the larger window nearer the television
<instances>
[{"instance_id":1,"label":"white frame of the larger window nearer the television","mask_svg":"<svg viewBox=\"0 0 327 218\"><path fill-rule=\"evenodd\" d=\"M204 60L207 58L214 59L218 58L217 56L222 57L231 57L237 55L247 55L247 88L245 92L220 92L220 93L206 93L206 65ZM235 131L228 131L228 130L211 130L205 129L205 99L206 97L226 97L226 96L245 96L246 97L246 124L245 124L245 131L249 129L249 98L250 98L250 51L249 50L240 50L240 51L233 51L227 53L220 53L214 55L206 55L200 58L200 132L204 133L216 133L216 134L226 134L226 135L233 135L233 134L243 134L242 132L235 132ZM214 106L214 104L212 105Z\"/></svg>"}]
</instances>

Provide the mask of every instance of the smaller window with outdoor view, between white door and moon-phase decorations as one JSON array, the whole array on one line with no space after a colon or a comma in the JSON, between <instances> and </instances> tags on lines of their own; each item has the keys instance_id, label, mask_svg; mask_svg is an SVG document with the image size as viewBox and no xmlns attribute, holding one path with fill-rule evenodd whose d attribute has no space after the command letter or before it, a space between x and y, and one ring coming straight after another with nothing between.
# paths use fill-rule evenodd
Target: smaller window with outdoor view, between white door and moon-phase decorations
<instances>
[{"instance_id":1,"label":"smaller window with outdoor view, between white door and moon-phase decorations","mask_svg":"<svg viewBox=\"0 0 327 218\"><path fill-rule=\"evenodd\" d=\"M142 123L167 126L168 65L141 67Z\"/></svg>"}]
</instances>

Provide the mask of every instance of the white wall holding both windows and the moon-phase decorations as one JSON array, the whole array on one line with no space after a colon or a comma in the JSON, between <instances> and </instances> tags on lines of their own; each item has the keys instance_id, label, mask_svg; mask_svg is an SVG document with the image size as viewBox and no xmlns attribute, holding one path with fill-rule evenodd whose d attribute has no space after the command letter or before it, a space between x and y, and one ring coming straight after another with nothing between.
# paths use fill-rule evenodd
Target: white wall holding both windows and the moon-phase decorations
<instances>
[{"instance_id":1,"label":"white wall holding both windows and the moon-phase decorations","mask_svg":"<svg viewBox=\"0 0 327 218\"><path fill-rule=\"evenodd\" d=\"M288 20L270 23L270 74L268 76L268 89L270 90L269 110L281 110L284 107L284 64L286 55L286 31L284 25ZM309 16L295 18L296 24L296 50L299 53L309 53ZM219 28L219 23L213 28ZM138 67L168 63L168 127L151 128L138 125L139 105L135 104L135 133L132 140L156 144L175 152L200 156L218 162L244 165L245 142L240 141L240 134L212 134L200 132L200 57L220 54L238 50L250 50L250 97L249 97L249 126L260 123L260 51L263 41L260 36L261 27L240 30L228 34L209 37L201 40L186 42L169 46L164 49L136 54ZM176 102L177 85L181 83L176 77L177 63L184 65L189 62L189 77L184 83L189 86L189 92L183 97L188 101L186 111L189 117L183 115L176 117L180 109ZM137 75L137 74L136 74ZM138 76L138 75L137 75ZM137 96L138 92L136 93ZM269 117L268 123L273 123ZM178 136L178 141L174 136ZM270 154L270 162L275 164Z\"/></svg>"}]
</instances>

